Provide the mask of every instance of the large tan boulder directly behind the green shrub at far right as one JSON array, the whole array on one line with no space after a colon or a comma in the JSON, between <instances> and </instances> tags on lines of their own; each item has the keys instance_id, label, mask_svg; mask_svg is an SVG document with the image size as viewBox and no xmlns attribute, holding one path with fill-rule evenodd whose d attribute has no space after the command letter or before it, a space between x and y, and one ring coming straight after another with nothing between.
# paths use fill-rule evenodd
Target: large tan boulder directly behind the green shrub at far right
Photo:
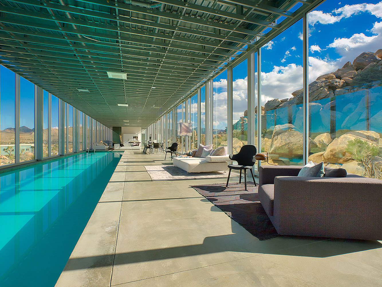
<instances>
[{"instance_id":1,"label":"large tan boulder directly behind the green shrub at far right","mask_svg":"<svg viewBox=\"0 0 382 287\"><path fill-rule=\"evenodd\" d=\"M352 160L351 155L346 152L350 140L361 139L377 146L379 138L380 135L373 131L356 130L347 132L329 143L323 155L323 160L328 163L346 163Z\"/></svg>"}]
</instances>

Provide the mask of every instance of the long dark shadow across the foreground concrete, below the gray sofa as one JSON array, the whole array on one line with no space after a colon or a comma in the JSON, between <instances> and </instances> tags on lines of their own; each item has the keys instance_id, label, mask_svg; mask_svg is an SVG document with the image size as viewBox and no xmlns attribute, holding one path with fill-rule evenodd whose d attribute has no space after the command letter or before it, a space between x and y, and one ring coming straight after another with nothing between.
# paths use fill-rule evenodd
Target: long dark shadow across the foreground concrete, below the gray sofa
<instances>
[{"instance_id":1,"label":"long dark shadow across the foreground concrete, below the gray sofa","mask_svg":"<svg viewBox=\"0 0 382 287\"><path fill-rule=\"evenodd\" d=\"M243 229L243 231L245 230ZM243 231L241 231L241 233ZM254 253L254 255L266 253L325 258L382 247L382 244L378 241L300 238L291 236L282 236L266 241L254 240L253 243L248 244L248 239L243 241L243 238L246 238L246 236L243 236L241 233L206 237L202 244L196 245L117 253L114 258L114 265L181 258L225 251ZM317 241L312 241L315 239L317 239ZM296 244L292 247L290 247L291 240L296 241ZM284 248L282 246L284 246ZM65 270L85 269L89 267L89 263L97 267L110 266L110 262L112 262L110 259L112 258L113 254L70 258Z\"/></svg>"}]
</instances>

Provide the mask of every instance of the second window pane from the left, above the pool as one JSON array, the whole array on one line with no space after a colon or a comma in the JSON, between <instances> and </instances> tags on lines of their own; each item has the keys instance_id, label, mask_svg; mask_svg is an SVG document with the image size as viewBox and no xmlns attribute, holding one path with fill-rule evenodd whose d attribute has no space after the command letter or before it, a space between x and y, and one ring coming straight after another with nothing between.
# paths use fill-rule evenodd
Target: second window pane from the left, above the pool
<instances>
[{"instance_id":1,"label":"second window pane from the left, above the pool","mask_svg":"<svg viewBox=\"0 0 382 287\"><path fill-rule=\"evenodd\" d=\"M34 84L20 77L20 162L34 160Z\"/></svg>"}]
</instances>

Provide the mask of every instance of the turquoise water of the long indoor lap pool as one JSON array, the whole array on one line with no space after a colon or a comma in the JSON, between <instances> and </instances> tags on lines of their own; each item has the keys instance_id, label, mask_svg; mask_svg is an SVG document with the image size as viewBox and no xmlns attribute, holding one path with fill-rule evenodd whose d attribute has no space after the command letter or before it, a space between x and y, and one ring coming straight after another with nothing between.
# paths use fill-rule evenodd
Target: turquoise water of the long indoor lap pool
<instances>
[{"instance_id":1,"label":"turquoise water of the long indoor lap pool","mask_svg":"<svg viewBox=\"0 0 382 287\"><path fill-rule=\"evenodd\" d=\"M0 286L54 286L122 153L0 174Z\"/></svg>"}]
</instances>

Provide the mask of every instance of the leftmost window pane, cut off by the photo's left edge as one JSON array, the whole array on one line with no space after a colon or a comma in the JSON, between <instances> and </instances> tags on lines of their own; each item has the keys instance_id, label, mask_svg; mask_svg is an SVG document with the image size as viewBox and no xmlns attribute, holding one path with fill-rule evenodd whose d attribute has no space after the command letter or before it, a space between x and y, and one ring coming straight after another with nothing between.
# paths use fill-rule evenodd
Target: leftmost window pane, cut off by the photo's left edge
<instances>
[{"instance_id":1,"label":"leftmost window pane, cut off by the photo's left edge","mask_svg":"<svg viewBox=\"0 0 382 287\"><path fill-rule=\"evenodd\" d=\"M0 166L15 163L15 77L0 65Z\"/></svg>"}]
</instances>

